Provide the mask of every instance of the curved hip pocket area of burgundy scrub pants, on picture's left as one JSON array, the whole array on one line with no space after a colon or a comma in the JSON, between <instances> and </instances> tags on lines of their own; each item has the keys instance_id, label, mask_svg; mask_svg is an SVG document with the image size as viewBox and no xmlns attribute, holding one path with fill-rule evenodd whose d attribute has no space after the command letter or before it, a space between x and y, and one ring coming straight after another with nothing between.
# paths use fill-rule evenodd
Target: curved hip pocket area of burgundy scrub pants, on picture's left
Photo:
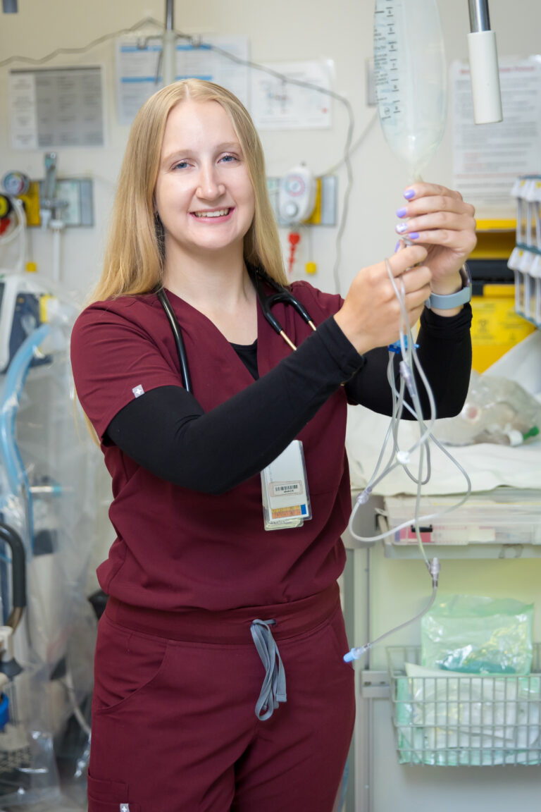
<instances>
[{"instance_id":1,"label":"curved hip pocket area of burgundy scrub pants, on picture's left","mask_svg":"<svg viewBox=\"0 0 541 812\"><path fill-rule=\"evenodd\" d=\"M160 672L166 651L163 637L133 632L102 615L94 659L92 715L112 711L143 691Z\"/></svg>"}]
</instances>

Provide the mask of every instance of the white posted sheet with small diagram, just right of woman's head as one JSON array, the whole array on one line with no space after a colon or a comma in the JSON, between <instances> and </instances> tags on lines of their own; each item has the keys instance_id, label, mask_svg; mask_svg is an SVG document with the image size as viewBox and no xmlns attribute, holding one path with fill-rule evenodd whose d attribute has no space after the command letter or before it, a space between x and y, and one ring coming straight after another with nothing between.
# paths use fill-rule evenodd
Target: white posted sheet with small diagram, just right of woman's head
<instances>
[{"instance_id":1,"label":"white posted sheet with small diagram, just right of woman's head","mask_svg":"<svg viewBox=\"0 0 541 812\"><path fill-rule=\"evenodd\" d=\"M269 70L251 71L251 116L255 127L313 130L331 126L330 62L269 63L262 67Z\"/></svg>"}]
</instances>

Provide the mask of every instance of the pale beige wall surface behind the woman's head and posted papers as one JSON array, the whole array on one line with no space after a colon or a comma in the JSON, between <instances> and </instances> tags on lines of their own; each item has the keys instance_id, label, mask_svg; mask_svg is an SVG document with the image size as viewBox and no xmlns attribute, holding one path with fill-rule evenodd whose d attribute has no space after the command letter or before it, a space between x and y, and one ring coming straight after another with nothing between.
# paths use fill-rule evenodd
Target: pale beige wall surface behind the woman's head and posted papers
<instances>
[{"instance_id":1,"label":"pale beige wall surface behind the woman's head and posted papers","mask_svg":"<svg viewBox=\"0 0 541 812\"><path fill-rule=\"evenodd\" d=\"M237 34L248 37L256 62L332 59L334 90L350 100L355 115L355 138L374 115L366 106L365 60L371 55L373 0L204 0L175 3L175 28L189 33ZM491 0L492 26L500 55L526 55L539 50L539 0ZM466 59L468 14L466 0L440 0L449 63ZM15 54L41 58L61 47L83 47L98 37L128 28L144 17L163 21L164 0L20 0L17 15L0 15L0 61ZM422 43L419 42L419 47ZM104 149L59 151L60 175L89 175L95 180L96 226L63 235L62 270L69 287L87 290L97 278L114 181L127 138L118 125L114 93L114 41L97 45L87 54L67 54L48 65L102 64L105 67L106 139ZM10 67L24 67L15 62ZM0 67L0 172L25 171L43 176L43 154L11 149L7 119L8 67ZM452 183L450 122L436 158L424 175ZM280 175L304 160L316 174L341 158L346 116L334 104L333 127L320 132L264 132L269 175ZM379 125L368 132L353 157L354 188L341 253L341 291L345 292L359 266L377 261L393 250L394 211L401 205L407 171L385 144ZM346 177L339 173L340 201ZM341 209L341 207L340 207ZM316 283L333 290L334 228L314 228L313 255L319 263ZM52 240L33 230L34 258L50 273ZM303 259L301 249L300 259Z\"/></svg>"}]
</instances>

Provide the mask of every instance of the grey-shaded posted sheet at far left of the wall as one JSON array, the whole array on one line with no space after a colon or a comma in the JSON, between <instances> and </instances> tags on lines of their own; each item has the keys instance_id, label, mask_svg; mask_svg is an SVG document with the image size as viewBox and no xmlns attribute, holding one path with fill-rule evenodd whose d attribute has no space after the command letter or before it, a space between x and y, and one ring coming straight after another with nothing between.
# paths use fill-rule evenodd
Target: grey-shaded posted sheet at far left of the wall
<instances>
[{"instance_id":1,"label":"grey-shaded posted sheet at far left of the wall","mask_svg":"<svg viewBox=\"0 0 541 812\"><path fill-rule=\"evenodd\" d=\"M101 67L10 71L11 146L104 145Z\"/></svg>"}]
</instances>

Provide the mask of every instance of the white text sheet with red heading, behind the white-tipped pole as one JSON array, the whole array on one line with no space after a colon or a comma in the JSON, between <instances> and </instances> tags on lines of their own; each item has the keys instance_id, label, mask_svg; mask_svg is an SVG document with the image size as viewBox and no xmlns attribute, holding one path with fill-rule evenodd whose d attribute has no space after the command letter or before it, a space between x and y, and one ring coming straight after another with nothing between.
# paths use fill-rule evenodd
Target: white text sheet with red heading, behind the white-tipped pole
<instances>
[{"instance_id":1,"label":"white text sheet with red heading, behind the white-tipped pole","mask_svg":"<svg viewBox=\"0 0 541 812\"><path fill-rule=\"evenodd\" d=\"M467 64L453 63L451 87L454 188L478 215L514 218L514 180L541 168L541 57L500 60L499 123L474 124Z\"/></svg>"}]
</instances>

